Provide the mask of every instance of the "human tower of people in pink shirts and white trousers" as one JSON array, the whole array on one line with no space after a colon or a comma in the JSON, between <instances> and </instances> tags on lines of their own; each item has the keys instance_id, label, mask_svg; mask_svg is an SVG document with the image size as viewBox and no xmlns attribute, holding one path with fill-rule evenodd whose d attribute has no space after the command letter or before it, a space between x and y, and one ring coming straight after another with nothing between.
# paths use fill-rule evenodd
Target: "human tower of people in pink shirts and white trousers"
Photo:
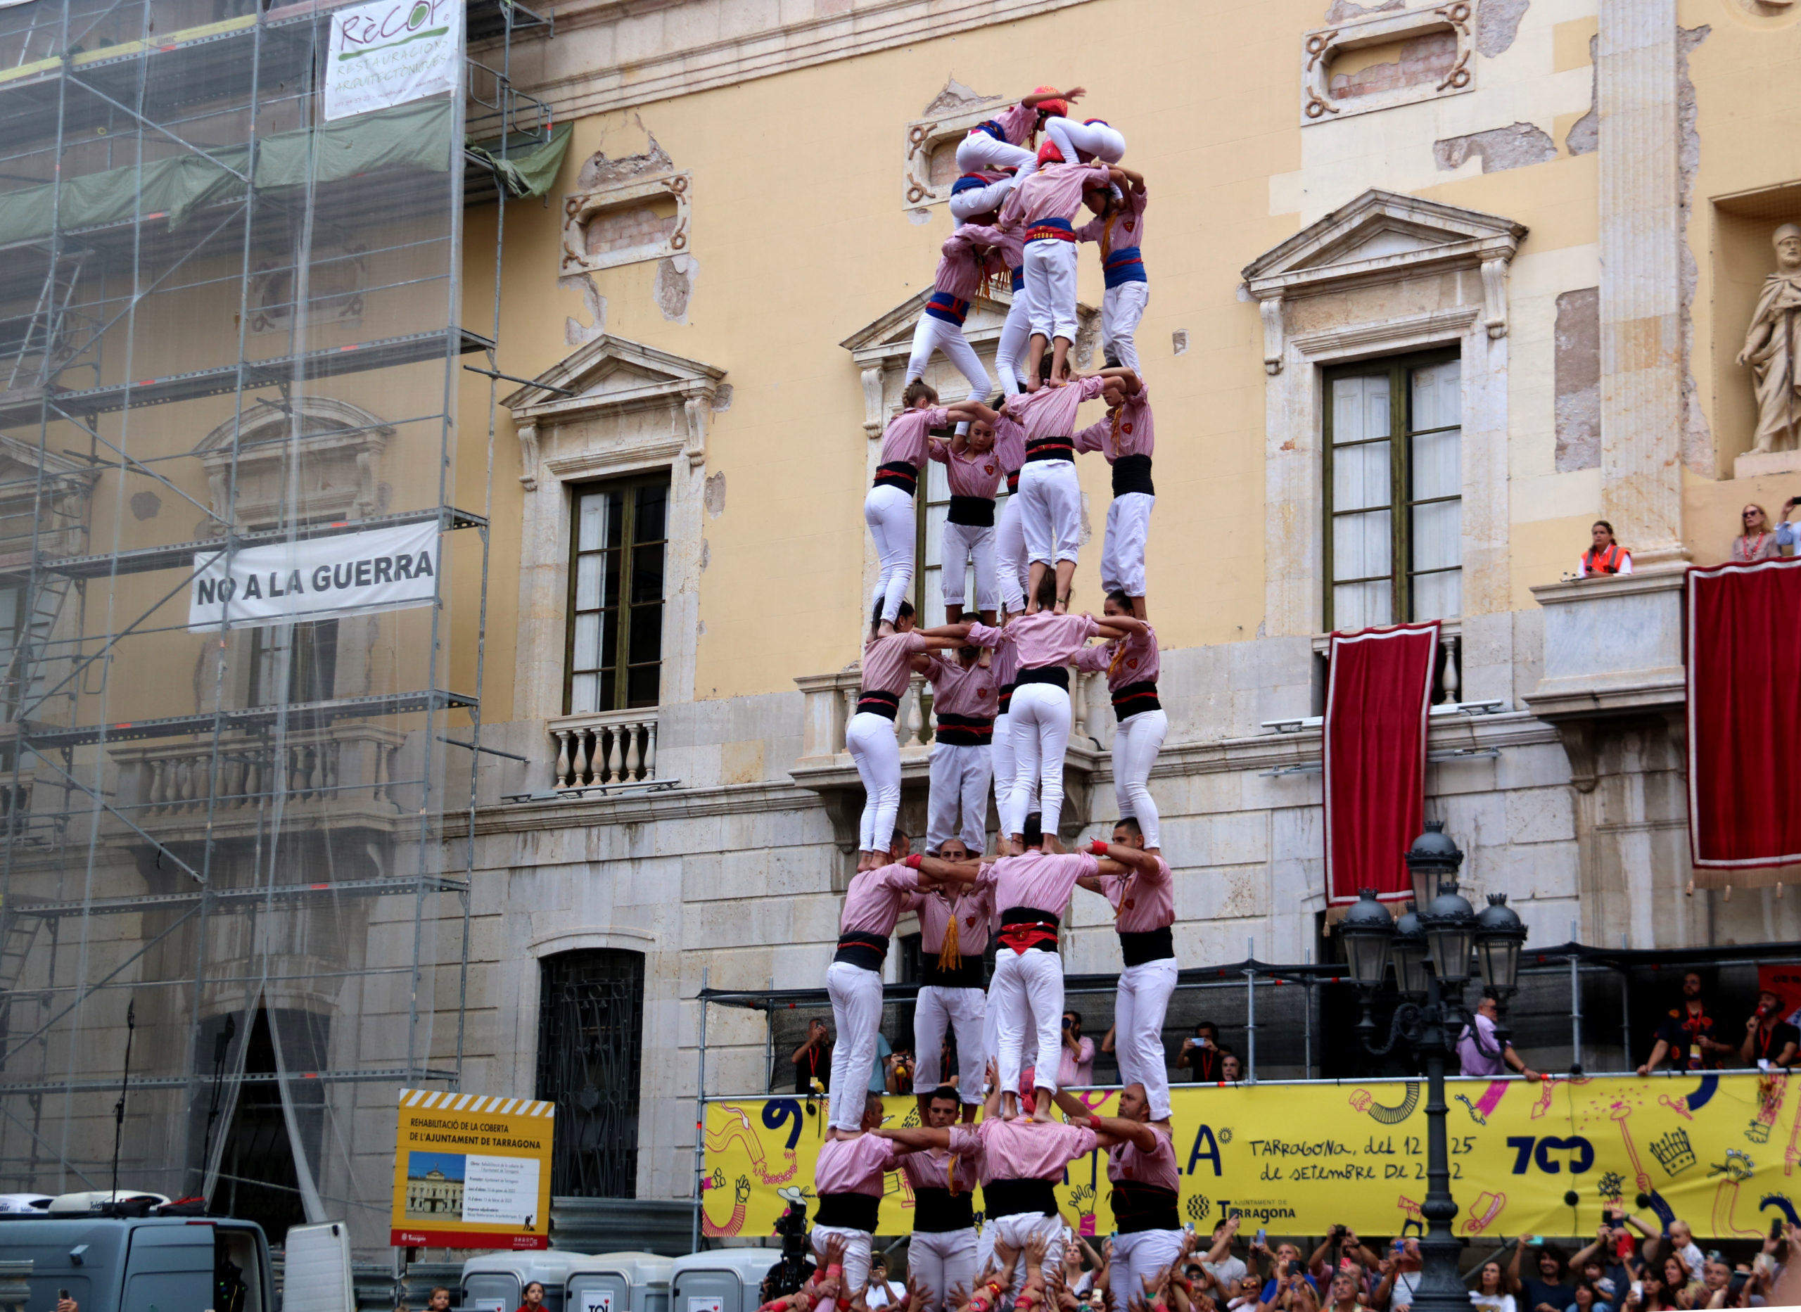
<instances>
[{"instance_id":1,"label":"human tower of people in pink shirts and white trousers","mask_svg":"<svg viewBox=\"0 0 1801 1312\"><path fill-rule=\"evenodd\" d=\"M964 171L951 189L956 229L944 243L913 337L902 410L882 434L881 468L864 520L881 578L863 648L863 686L846 743L864 786L857 873L845 894L827 990L837 1022L830 1128L821 1145L814 1247L821 1281L809 1307L861 1290L877 1227L882 1175L902 1170L913 1188L910 1267L929 1307L967 1301L987 1312L1010 1283L1016 1298L1055 1280L1063 1220L1052 1186L1064 1166L1102 1146L1118 1226L1117 1290L1136 1296L1144 1276L1183 1245L1176 1215L1163 1011L1176 986L1172 878L1145 788L1167 718L1156 698L1156 632L1145 614L1145 533L1154 490L1154 428L1135 333L1149 283L1145 184L1120 166L1126 139L1100 119L1079 121L1081 86L1041 86L958 146ZM1077 227L1086 211L1086 221ZM1106 367L1072 369L1081 243L1099 247L1106 275ZM971 302L1000 279L1012 304L996 351L1000 394L969 342ZM969 396L940 405L922 374L935 351L969 380ZM1084 401L1106 414L1077 427ZM1081 488L1077 452L1100 452L1113 470L1100 580L1102 617L1070 608ZM913 580L915 506L926 461L946 466L942 590L949 623L919 630L906 592ZM996 526L1001 479L1007 504ZM965 619L965 572L974 563L974 619ZM1100 644L1090 644L1102 639ZM1070 666L1104 669L1118 729L1113 786L1120 819L1111 842L1066 853L1063 756L1070 738ZM910 677L933 686L937 736L926 853L895 839L900 750L895 714ZM989 786L1000 835L985 853ZM1118 1118L1090 1116L1057 1087L1063 959L1057 930L1077 887L1113 907L1120 972L1115 1046L1126 1091ZM882 1015L882 961L902 912L920 918L913 1092L920 1128L886 1130L868 1094ZM998 939L992 986L982 957ZM940 1085L946 1029L958 1071ZM1052 1118L1052 1103L1066 1119ZM985 1114L976 1125L976 1109ZM980 1238L973 1191L983 1195ZM991 1256L1028 1253L1010 1281ZM983 1283L978 1285L978 1272ZM1010 1299L1012 1301L1012 1299ZM1023 1305L1023 1303L1021 1303Z\"/></svg>"}]
</instances>

